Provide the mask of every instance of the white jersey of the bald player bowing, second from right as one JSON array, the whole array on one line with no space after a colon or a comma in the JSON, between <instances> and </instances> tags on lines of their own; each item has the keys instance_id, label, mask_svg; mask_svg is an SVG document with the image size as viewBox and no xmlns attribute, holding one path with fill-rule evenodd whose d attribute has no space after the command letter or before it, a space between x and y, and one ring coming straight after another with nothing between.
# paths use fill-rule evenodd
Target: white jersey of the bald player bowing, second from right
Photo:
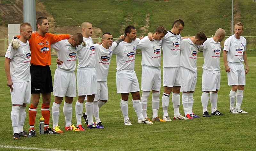
<instances>
[{"instance_id":1,"label":"white jersey of the bald player bowing, second from right","mask_svg":"<svg viewBox=\"0 0 256 151\"><path fill-rule=\"evenodd\" d=\"M199 46L203 49L204 65L203 69L210 72L220 72L220 42L216 42L213 38L207 38L203 45Z\"/></svg>"}]
</instances>

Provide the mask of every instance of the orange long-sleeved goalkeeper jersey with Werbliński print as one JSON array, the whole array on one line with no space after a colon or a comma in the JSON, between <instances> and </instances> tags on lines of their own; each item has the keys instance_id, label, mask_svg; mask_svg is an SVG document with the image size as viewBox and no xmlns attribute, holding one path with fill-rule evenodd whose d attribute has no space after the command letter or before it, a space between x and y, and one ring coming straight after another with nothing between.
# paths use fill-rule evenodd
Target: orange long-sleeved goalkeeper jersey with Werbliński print
<instances>
[{"instance_id":1,"label":"orange long-sleeved goalkeeper jersey with Werbli\u0144ski print","mask_svg":"<svg viewBox=\"0 0 256 151\"><path fill-rule=\"evenodd\" d=\"M17 36L18 39L20 35ZM63 39L68 39L69 35L60 34L54 35L52 33L46 33L45 36L39 35L37 32L32 33L29 41L29 47L31 51L30 64L40 66L50 66L51 61L51 43L58 42Z\"/></svg>"}]
</instances>

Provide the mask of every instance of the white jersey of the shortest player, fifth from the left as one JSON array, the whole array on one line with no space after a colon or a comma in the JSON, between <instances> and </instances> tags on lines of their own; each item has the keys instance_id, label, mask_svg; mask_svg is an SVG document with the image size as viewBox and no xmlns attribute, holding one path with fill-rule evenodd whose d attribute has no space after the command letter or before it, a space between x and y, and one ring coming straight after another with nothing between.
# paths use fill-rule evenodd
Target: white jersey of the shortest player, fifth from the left
<instances>
[{"instance_id":1,"label":"white jersey of the shortest player, fifth from the left","mask_svg":"<svg viewBox=\"0 0 256 151\"><path fill-rule=\"evenodd\" d=\"M110 60L112 57L112 52L116 48L116 42L112 43L112 46L108 49L104 48L102 45L95 44L96 52L96 74L97 81L107 81L108 69Z\"/></svg>"}]
</instances>

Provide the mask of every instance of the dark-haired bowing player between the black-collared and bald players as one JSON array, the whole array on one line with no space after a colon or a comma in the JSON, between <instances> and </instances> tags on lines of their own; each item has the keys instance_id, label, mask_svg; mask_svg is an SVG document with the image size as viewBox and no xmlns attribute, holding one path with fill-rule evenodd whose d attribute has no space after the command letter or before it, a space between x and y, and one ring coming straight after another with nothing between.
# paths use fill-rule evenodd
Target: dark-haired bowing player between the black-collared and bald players
<instances>
[{"instance_id":1,"label":"dark-haired bowing player between the black-collared and bald players","mask_svg":"<svg viewBox=\"0 0 256 151\"><path fill-rule=\"evenodd\" d=\"M204 41L206 40L207 37L204 32L198 32L194 38L188 38L181 41L181 100L185 117L188 119L200 118L200 116L197 116L192 112L194 103L193 94L197 81L196 60L198 46L203 45Z\"/></svg>"}]
</instances>

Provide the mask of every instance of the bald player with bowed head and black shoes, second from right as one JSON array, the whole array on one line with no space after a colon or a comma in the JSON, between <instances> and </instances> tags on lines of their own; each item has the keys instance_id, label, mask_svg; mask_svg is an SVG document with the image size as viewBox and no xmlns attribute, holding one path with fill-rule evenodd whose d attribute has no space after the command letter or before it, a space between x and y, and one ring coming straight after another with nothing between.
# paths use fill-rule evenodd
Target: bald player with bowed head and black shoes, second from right
<instances>
[{"instance_id":1,"label":"bald player with bowed head and black shoes, second from right","mask_svg":"<svg viewBox=\"0 0 256 151\"><path fill-rule=\"evenodd\" d=\"M199 49L203 49L204 53L202 76L203 93L201 96L203 117L225 115L217 110L218 90L220 90L220 42L224 39L225 35L225 30L219 28L213 37L207 38L204 44L199 46ZM209 115L207 110L209 98L212 106L211 115Z\"/></svg>"}]
</instances>

